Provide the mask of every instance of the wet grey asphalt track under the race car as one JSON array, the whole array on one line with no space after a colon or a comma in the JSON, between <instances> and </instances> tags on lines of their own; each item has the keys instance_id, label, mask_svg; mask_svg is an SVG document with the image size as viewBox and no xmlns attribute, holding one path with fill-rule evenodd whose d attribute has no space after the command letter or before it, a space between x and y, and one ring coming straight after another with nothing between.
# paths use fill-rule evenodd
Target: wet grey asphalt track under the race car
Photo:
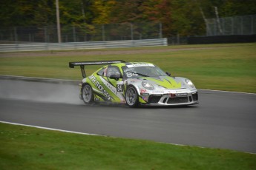
<instances>
[{"instance_id":1,"label":"wet grey asphalt track under the race car","mask_svg":"<svg viewBox=\"0 0 256 170\"><path fill-rule=\"evenodd\" d=\"M0 79L0 120L256 153L256 95L200 90L199 98L183 107L85 106L72 84Z\"/></svg>"}]
</instances>

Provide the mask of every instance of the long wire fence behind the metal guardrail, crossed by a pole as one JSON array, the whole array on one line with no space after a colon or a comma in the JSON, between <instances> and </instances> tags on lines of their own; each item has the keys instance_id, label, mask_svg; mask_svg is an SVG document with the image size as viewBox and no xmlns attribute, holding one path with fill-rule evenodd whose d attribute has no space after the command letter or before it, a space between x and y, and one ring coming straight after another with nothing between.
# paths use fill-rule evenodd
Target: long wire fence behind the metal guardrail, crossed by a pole
<instances>
[{"instance_id":1,"label":"long wire fence behind the metal guardrail, crossed by a pole","mask_svg":"<svg viewBox=\"0 0 256 170\"><path fill-rule=\"evenodd\" d=\"M103 25L62 25L62 42L122 41L162 38L160 23L121 23ZM0 27L0 44L56 43L56 26Z\"/></svg>"}]
</instances>

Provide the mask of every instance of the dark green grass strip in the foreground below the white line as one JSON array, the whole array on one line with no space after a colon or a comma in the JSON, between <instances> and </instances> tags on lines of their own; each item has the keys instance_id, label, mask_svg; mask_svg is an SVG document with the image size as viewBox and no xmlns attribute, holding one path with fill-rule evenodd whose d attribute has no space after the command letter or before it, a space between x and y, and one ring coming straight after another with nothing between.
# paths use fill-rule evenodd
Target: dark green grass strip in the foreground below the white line
<instances>
[{"instance_id":1,"label":"dark green grass strip in the foreground below the white line","mask_svg":"<svg viewBox=\"0 0 256 170\"><path fill-rule=\"evenodd\" d=\"M256 154L0 123L1 169L256 169Z\"/></svg>"}]
</instances>

